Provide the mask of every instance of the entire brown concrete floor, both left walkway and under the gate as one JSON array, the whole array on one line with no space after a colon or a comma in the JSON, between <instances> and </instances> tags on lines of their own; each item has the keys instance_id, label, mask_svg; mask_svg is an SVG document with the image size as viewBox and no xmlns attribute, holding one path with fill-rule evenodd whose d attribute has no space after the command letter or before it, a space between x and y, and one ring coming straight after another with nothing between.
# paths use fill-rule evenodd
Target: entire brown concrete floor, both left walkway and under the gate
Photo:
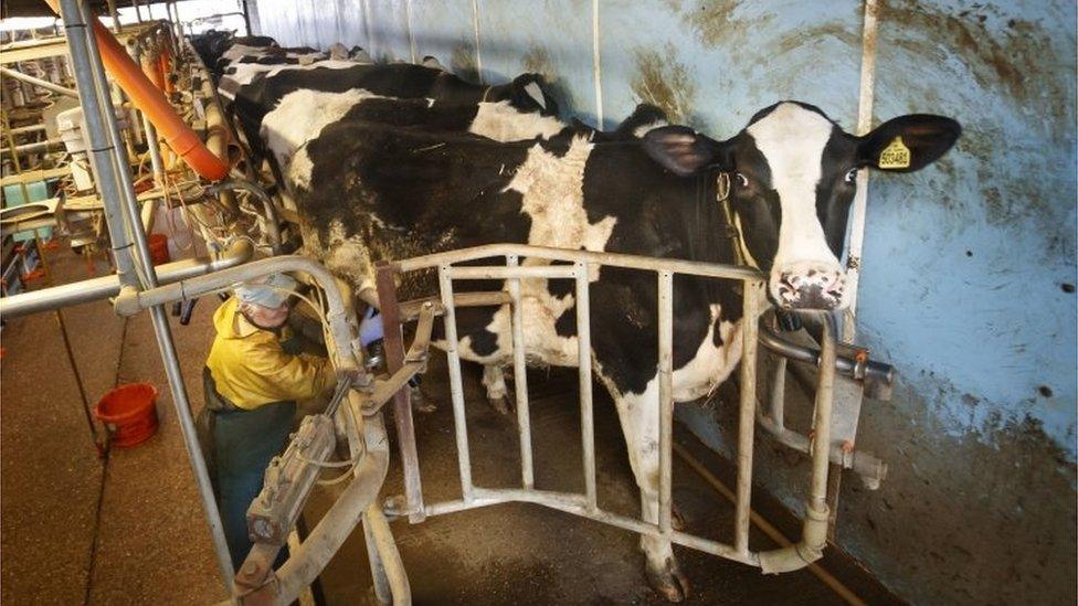
<instances>
[{"instance_id":1,"label":"entire brown concrete floor, both left walkway and under the gate","mask_svg":"<svg viewBox=\"0 0 1078 606\"><path fill-rule=\"evenodd\" d=\"M56 283L86 275L85 265L68 253L49 258ZM172 323L197 407L202 394L195 379L214 308L207 299L190 326ZM103 464L91 444L54 315L7 323L0 362L0 603L191 604L224 597L148 315L125 321L104 302L63 313L91 402L118 383L149 381L161 391L161 426L147 443L115 449ZM444 358L434 360L426 391L447 394ZM465 369L465 380L474 479L479 486L512 486L519 478L515 424L486 405L476 368ZM574 382L570 372L531 374L540 488L582 487ZM600 502L635 515L638 497L617 419L599 395L602 390L595 393ZM416 417L427 502L459 496L447 395L438 404L436 412ZM720 461L689 446L723 474ZM675 461L674 498L688 530L729 541L732 507ZM395 464L397 457L384 496L401 491ZM329 489L318 489L307 518L317 520L332 498ZM557 511L506 504L416 525L400 520L393 532L418 604L663 604L644 580L635 535ZM754 549L770 546L760 536L752 540ZM693 604L841 603L806 571L765 577L755 568L675 550L693 583ZM824 562L868 603L894 600L841 557L832 554ZM321 595L326 604L363 604L372 602L369 587L357 532L324 573Z\"/></svg>"}]
</instances>

